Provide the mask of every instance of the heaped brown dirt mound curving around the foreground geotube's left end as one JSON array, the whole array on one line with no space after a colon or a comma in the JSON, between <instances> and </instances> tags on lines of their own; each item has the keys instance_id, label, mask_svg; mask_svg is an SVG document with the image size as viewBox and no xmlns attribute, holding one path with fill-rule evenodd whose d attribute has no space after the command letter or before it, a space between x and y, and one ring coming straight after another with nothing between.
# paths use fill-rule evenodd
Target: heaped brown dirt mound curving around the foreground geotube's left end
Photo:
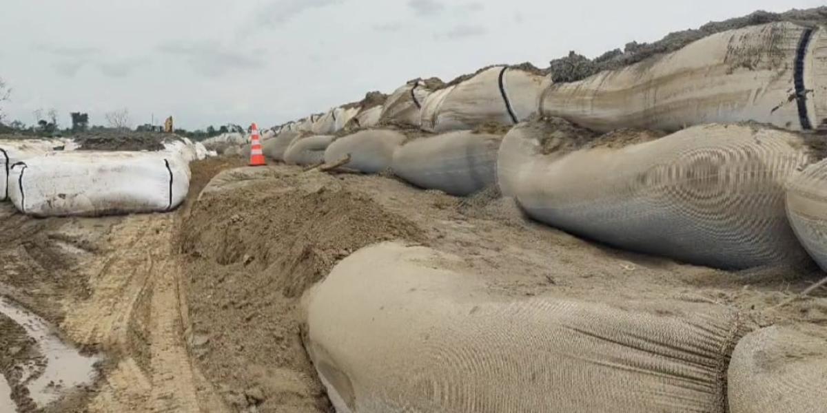
<instances>
[{"instance_id":1,"label":"heaped brown dirt mound curving around the foreground geotube's left end","mask_svg":"<svg viewBox=\"0 0 827 413\"><path fill-rule=\"evenodd\" d=\"M327 175L279 171L211 185L184 220L192 351L237 409L329 411L299 339L299 297L356 249L423 235Z\"/></svg>"}]
</instances>

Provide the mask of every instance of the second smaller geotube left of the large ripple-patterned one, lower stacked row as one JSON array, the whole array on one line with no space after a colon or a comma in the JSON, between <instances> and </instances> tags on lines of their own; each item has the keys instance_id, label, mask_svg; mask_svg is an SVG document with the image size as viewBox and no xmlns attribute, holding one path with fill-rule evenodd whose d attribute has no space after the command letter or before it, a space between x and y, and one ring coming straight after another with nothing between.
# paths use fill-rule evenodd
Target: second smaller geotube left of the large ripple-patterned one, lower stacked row
<instances>
[{"instance_id":1,"label":"second smaller geotube left of the large ripple-patterned one, lower stacked row","mask_svg":"<svg viewBox=\"0 0 827 413\"><path fill-rule=\"evenodd\" d=\"M405 135L397 131L359 131L334 140L324 152L324 161L333 164L349 156L350 160L343 167L362 173L380 173L390 168L394 151L405 139Z\"/></svg>"}]
</instances>

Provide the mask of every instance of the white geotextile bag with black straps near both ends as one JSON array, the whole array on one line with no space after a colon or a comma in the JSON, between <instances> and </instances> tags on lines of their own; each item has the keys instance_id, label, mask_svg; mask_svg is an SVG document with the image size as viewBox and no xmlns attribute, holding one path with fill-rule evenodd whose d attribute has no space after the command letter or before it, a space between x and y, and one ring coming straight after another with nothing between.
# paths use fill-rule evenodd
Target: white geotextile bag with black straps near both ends
<instances>
[{"instance_id":1,"label":"white geotextile bag with black straps near both ends","mask_svg":"<svg viewBox=\"0 0 827 413\"><path fill-rule=\"evenodd\" d=\"M189 191L189 165L164 152L52 152L12 165L9 198L32 216L170 211Z\"/></svg>"}]
</instances>

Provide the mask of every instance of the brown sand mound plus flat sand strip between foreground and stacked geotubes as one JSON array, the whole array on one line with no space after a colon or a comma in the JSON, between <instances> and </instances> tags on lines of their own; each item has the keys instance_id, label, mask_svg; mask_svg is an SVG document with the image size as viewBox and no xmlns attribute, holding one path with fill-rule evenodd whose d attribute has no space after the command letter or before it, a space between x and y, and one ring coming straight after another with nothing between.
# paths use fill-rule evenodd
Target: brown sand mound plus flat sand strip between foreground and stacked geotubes
<instances>
[{"instance_id":1,"label":"brown sand mound plus flat sand strip between foreground and stacked geotubes","mask_svg":"<svg viewBox=\"0 0 827 413\"><path fill-rule=\"evenodd\" d=\"M225 175L182 242L198 365L237 411L329 411L299 341L298 296L360 246L398 237L456 254L502 297L680 297L738 306L755 325L827 324L827 299L778 306L820 273L727 273L629 254L392 178L276 167ZM213 189L213 188L211 188Z\"/></svg>"}]
</instances>

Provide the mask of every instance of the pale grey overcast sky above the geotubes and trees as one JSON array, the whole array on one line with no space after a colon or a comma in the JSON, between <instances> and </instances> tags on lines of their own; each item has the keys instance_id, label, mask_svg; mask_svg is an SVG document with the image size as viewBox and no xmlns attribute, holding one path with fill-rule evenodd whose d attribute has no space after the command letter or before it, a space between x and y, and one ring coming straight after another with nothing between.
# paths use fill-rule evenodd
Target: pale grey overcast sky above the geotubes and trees
<instances>
[{"instance_id":1,"label":"pale grey overcast sky above the geotubes and trees","mask_svg":"<svg viewBox=\"0 0 827 413\"><path fill-rule=\"evenodd\" d=\"M589 57L631 40L825 0L2 0L4 106L189 129L273 126L406 80Z\"/></svg>"}]
</instances>

